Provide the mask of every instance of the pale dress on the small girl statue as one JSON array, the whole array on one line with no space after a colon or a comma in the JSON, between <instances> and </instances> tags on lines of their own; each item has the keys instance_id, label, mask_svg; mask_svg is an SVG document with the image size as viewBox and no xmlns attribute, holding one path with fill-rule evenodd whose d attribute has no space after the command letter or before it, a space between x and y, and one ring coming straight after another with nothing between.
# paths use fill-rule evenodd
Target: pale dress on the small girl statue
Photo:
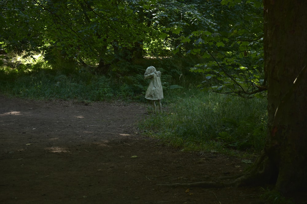
<instances>
[{"instance_id":1,"label":"pale dress on the small girl statue","mask_svg":"<svg viewBox=\"0 0 307 204\"><path fill-rule=\"evenodd\" d=\"M163 98L163 89L160 77L153 72L147 74L144 78L151 79L145 98L149 100L161 100Z\"/></svg>"}]
</instances>

